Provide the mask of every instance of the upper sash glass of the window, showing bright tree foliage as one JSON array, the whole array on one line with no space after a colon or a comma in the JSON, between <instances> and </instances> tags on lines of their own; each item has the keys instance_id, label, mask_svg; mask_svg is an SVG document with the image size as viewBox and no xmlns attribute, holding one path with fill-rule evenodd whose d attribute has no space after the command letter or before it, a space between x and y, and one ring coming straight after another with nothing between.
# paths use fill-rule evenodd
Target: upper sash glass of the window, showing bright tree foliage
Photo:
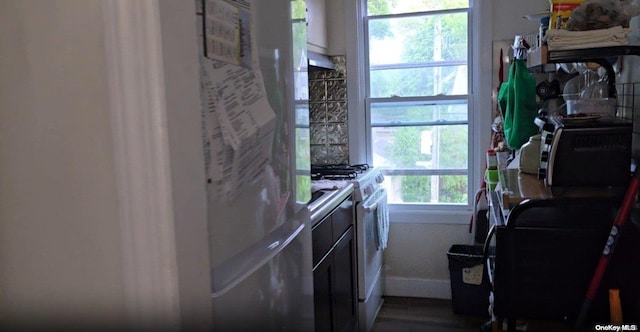
<instances>
[{"instance_id":1,"label":"upper sash glass of the window, showing bright tree foliage","mask_svg":"<svg viewBox=\"0 0 640 332\"><path fill-rule=\"evenodd\" d=\"M467 93L467 13L369 21L371 97Z\"/></svg>"}]
</instances>

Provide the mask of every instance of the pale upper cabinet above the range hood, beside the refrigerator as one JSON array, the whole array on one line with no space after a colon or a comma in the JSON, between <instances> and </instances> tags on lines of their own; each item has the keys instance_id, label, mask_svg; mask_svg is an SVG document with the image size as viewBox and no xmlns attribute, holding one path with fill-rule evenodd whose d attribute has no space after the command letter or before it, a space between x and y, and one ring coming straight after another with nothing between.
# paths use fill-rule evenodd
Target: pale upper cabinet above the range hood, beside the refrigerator
<instances>
[{"instance_id":1,"label":"pale upper cabinet above the range hood, beside the refrigerator","mask_svg":"<svg viewBox=\"0 0 640 332\"><path fill-rule=\"evenodd\" d=\"M307 47L325 55L344 55L344 0L307 0Z\"/></svg>"}]
</instances>

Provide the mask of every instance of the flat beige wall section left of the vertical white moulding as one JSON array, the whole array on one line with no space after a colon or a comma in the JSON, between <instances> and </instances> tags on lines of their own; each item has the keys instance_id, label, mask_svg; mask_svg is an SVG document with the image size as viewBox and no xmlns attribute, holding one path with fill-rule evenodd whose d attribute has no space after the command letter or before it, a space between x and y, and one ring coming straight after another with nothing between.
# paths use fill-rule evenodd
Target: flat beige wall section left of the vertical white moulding
<instances>
[{"instance_id":1,"label":"flat beige wall section left of the vertical white moulding","mask_svg":"<svg viewBox=\"0 0 640 332\"><path fill-rule=\"evenodd\" d=\"M1 7L0 324L121 321L101 2Z\"/></svg>"}]
</instances>

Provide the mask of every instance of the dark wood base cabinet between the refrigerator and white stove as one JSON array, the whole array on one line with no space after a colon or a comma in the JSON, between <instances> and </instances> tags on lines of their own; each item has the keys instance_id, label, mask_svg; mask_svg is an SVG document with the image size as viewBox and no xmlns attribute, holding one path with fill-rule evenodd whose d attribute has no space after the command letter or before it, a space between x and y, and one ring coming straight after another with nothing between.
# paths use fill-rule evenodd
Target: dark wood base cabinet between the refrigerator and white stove
<instances>
[{"instance_id":1,"label":"dark wood base cabinet between the refrigerator and white stove","mask_svg":"<svg viewBox=\"0 0 640 332\"><path fill-rule=\"evenodd\" d=\"M316 332L355 331L358 320L353 201L344 200L313 234Z\"/></svg>"}]
</instances>

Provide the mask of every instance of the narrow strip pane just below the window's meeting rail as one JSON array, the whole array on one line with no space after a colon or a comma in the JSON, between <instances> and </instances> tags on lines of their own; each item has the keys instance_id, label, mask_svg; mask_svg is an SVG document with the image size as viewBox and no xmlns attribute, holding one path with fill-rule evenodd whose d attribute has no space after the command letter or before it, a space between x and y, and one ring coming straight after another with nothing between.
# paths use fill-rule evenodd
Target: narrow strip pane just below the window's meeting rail
<instances>
[{"instance_id":1,"label":"narrow strip pane just below the window's meeting rail","mask_svg":"<svg viewBox=\"0 0 640 332\"><path fill-rule=\"evenodd\" d=\"M467 121L468 107L466 100L451 101L450 104L435 102L397 102L371 104L371 123L377 124L411 124L433 121Z\"/></svg>"}]
</instances>

